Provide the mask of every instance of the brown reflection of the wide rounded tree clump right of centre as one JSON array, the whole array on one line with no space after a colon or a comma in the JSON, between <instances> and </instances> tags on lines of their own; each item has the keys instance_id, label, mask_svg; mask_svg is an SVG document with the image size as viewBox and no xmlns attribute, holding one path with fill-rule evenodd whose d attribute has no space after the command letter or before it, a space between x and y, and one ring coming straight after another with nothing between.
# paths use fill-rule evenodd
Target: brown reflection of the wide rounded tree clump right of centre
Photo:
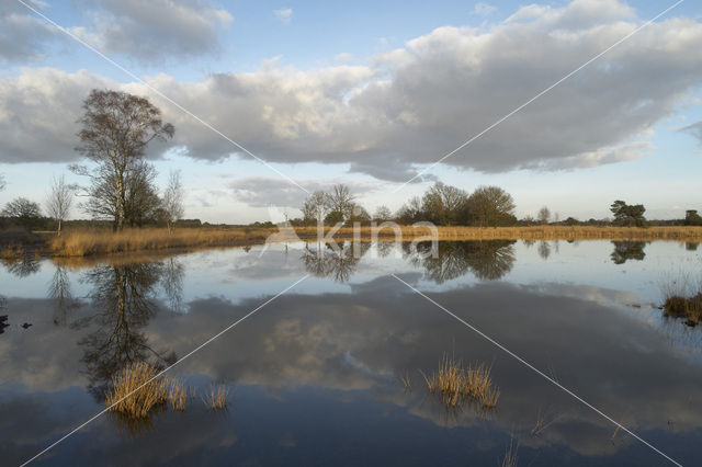
<instances>
[{"instance_id":1,"label":"brown reflection of the wide rounded tree clump right of centre","mask_svg":"<svg viewBox=\"0 0 702 467\"><path fill-rule=\"evenodd\" d=\"M430 254L431 242L417 244L410 260L421 264L427 275L441 284L472 272L482 281L495 281L512 270L514 240L440 241L439 254ZM409 250L409 246L405 246ZM423 259L421 259L423 257Z\"/></svg>"}]
</instances>

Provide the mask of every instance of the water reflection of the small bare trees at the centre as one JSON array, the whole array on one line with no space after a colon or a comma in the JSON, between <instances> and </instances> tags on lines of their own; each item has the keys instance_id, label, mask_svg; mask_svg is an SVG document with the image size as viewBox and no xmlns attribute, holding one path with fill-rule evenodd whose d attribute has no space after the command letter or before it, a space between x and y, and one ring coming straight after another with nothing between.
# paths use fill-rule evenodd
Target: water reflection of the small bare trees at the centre
<instances>
[{"instance_id":1,"label":"water reflection of the small bare trees at the centre","mask_svg":"<svg viewBox=\"0 0 702 467\"><path fill-rule=\"evenodd\" d=\"M359 261L367 252L369 242L317 243L316 249L305 246L302 260L308 273L317 277L331 277L348 282Z\"/></svg>"}]
</instances>

